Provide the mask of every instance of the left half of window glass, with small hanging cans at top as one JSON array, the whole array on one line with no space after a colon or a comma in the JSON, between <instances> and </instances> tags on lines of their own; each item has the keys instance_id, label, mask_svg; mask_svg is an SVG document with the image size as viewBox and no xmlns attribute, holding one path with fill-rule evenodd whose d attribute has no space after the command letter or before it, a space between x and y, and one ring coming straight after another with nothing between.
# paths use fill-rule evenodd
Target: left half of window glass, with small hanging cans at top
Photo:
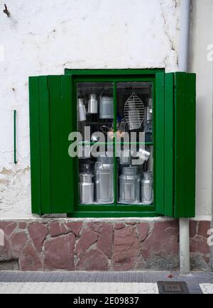
<instances>
[{"instance_id":1,"label":"left half of window glass, with small hanging cans at top","mask_svg":"<svg viewBox=\"0 0 213 308\"><path fill-rule=\"evenodd\" d=\"M112 204L114 203L113 84L78 83L77 110L78 131L82 134L82 144L79 145L80 203ZM105 144L107 141L108 145Z\"/></svg>"}]
</instances>

